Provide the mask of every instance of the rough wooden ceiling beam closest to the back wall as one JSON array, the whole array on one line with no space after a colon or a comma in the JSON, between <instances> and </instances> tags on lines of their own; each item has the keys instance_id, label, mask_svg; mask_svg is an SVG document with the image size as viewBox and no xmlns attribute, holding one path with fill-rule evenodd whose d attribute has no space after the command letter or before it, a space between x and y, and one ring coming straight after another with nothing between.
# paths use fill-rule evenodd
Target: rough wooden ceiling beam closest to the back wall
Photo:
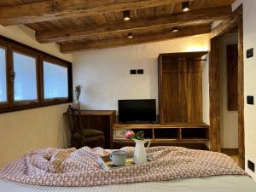
<instances>
[{"instance_id":1,"label":"rough wooden ceiling beam closest to the back wall","mask_svg":"<svg viewBox=\"0 0 256 192\"><path fill-rule=\"evenodd\" d=\"M211 26L198 26L183 28L179 32L160 32L160 33L148 33L147 35L138 36L134 38L113 38L105 39L102 41L90 41L80 44L61 44L61 53L71 53L80 50L90 49L106 49L119 46L127 46L131 44L146 44L157 41L169 40L172 38L182 38L193 35L205 34L211 32Z\"/></svg>"}]
</instances>

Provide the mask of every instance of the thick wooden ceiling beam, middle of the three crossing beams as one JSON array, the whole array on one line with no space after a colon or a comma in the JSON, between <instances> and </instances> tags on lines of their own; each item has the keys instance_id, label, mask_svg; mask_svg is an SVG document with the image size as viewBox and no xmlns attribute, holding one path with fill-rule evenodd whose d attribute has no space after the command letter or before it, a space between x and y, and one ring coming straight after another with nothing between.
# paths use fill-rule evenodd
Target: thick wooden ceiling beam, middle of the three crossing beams
<instances>
[{"instance_id":1,"label":"thick wooden ceiling beam, middle of the three crossing beams","mask_svg":"<svg viewBox=\"0 0 256 192\"><path fill-rule=\"evenodd\" d=\"M172 26L206 25L215 20L226 20L231 14L231 7L208 8L181 13L165 15L154 19L138 19L128 22L119 21L100 26L72 27L62 30L47 30L36 32L39 43L55 43L62 41L93 38L97 36L136 32L145 29L159 29Z\"/></svg>"}]
</instances>

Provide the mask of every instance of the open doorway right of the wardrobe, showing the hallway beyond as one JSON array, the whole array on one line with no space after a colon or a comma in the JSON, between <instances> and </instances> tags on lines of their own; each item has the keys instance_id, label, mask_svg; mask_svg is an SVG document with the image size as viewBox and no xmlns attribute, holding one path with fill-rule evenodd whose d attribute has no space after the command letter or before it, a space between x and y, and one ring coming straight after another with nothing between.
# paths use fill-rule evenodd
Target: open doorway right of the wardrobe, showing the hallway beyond
<instances>
[{"instance_id":1,"label":"open doorway right of the wardrobe, showing the hallway beyond","mask_svg":"<svg viewBox=\"0 0 256 192\"><path fill-rule=\"evenodd\" d=\"M237 27L219 37L219 107L221 152L238 164Z\"/></svg>"}]
</instances>

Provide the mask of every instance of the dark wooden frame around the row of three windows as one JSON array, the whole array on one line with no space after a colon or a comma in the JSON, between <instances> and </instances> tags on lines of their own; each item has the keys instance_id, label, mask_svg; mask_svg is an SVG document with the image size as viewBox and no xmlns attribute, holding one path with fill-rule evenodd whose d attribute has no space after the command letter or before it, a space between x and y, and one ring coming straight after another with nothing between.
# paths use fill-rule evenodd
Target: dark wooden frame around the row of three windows
<instances>
[{"instance_id":1,"label":"dark wooden frame around the row of three windows","mask_svg":"<svg viewBox=\"0 0 256 192\"><path fill-rule=\"evenodd\" d=\"M41 50L34 49L21 44L12 39L5 38L0 35L0 48L6 50L6 84L7 84L7 102L0 102L0 113L9 113L14 111L20 111L30 108L41 108L46 106L64 104L73 102L73 73L72 63L64 61L53 55L44 53ZM14 71L14 53L21 55L31 56L36 59L36 72L37 72L37 100L27 101L15 101L15 83L11 81L11 72ZM49 61L53 64L67 67L67 79L68 79L68 97L67 98L54 98L44 100L44 61Z\"/></svg>"}]
</instances>

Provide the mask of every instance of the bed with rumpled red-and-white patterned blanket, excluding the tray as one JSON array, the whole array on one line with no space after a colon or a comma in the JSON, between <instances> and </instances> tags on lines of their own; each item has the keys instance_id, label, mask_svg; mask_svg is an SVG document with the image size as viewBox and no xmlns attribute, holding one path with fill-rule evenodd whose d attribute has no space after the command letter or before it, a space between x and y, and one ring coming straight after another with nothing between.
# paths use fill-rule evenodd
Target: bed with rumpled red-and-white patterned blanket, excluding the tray
<instances>
[{"instance_id":1,"label":"bed with rumpled red-and-white patterned blanket, excluding the tray","mask_svg":"<svg viewBox=\"0 0 256 192\"><path fill-rule=\"evenodd\" d=\"M256 183L225 154L149 148L154 161L104 172L96 158L109 153L88 147L29 152L0 170L0 191L256 192Z\"/></svg>"}]
</instances>

